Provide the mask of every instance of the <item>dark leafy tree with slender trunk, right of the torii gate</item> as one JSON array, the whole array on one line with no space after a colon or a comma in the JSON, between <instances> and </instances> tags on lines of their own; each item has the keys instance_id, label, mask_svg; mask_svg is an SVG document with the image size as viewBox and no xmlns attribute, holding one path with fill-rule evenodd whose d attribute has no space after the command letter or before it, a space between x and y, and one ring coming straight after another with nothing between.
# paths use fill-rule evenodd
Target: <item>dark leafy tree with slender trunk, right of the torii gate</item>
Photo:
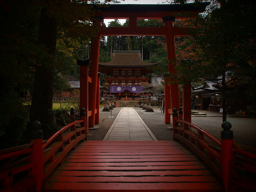
<instances>
[{"instance_id":1,"label":"dark leafy tree with slender trunk, right of the torii gate","mask_svg":"<svg viewBox=\"0 0 256 192\"><path fill-rule=\"evenodd\" d=\"M212 81L220 84L223 121L226 120L226 100L245 97L256 86L255 35L253 1L216 1L207 15L197 17L191 37L183 49L187 60L177 67L179 82L184 84ZM218 5L218 6L217 6ZM182 46L181 46L182 47ZM237 89L235 91L235 88ZM247 95L255 101L255 95Z\"/></svg>"}]
</instances>

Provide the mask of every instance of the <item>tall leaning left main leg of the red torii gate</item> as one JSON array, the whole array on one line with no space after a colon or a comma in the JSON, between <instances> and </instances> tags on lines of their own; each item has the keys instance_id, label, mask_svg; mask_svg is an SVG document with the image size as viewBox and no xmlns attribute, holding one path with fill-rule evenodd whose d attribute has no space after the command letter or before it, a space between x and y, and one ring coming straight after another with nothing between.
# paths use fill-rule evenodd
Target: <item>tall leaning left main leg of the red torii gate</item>
<instances>
[{"instance_id":1,"label":"tall leaning left main leg of the red torii gate","mask_svg":"<svg viewBox=\"0 0 256 192\"><path fill-rule=\"evenodd\" d=\"M94 24L99 22L100 25L103 21L103 18L96 17ZM100 34L94 38L91 42L91 66L89 70L89 76L92 78L92 83L89 84L89 110L92 114L88 118L89 127L94 127L95 123L95 108L96 108L96 94L97 94L97 80L98 80L98 65L99 65L99 53L100 53Z\"/></svg>"}]
</instances>

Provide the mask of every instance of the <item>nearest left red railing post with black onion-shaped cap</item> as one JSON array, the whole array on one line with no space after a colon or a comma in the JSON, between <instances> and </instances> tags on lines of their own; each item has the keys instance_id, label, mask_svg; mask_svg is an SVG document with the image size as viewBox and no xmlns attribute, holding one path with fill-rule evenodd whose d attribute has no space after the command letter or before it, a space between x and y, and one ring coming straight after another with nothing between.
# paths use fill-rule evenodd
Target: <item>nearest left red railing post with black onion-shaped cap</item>
<instances>
[{"instance_id":1,"label":"nearest left red railing post with black onion-shaped cap","mask_svg":"<svg viewBox=\"0 0 256 192\"><path fill-rule=\"evenodd\" d=\"M44 179L44 163L43 163L43 132L40 130L42 127L39 121L34 121L32 123L32 133L31 141L35 140L36 142L32 145L35 151L29 154L29 162L36 162L36 167L33 168L29 175L36 176L37 184L36 191L41 192Z\"/></svg>"}]
</instances>

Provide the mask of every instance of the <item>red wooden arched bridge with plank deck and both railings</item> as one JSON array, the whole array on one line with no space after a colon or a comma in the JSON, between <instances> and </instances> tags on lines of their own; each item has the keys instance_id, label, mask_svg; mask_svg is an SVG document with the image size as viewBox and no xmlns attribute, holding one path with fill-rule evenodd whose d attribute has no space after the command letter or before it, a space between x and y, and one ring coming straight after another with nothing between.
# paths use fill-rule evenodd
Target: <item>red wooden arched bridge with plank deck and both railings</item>
<instances>
[{"instance_id":1,"label":"red wooden arched bridge with plank deck and both railings","mask_svg":"<svg viewBox=\"0 0 256 192\"><path fill-rule=\"evenodd\" d=\"M0 191L255 191L229 122L219 141L173 111L174 141L86 141L84 110L43 141L35 121L29 144L0 151Z\"/></svg>"}]
</instances>

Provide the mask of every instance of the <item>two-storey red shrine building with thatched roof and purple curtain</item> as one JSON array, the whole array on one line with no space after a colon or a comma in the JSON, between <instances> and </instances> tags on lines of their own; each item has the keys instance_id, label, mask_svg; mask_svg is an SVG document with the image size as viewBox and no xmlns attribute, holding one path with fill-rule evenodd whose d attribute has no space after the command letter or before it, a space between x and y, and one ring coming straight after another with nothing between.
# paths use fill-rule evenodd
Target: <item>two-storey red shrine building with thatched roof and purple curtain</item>
<instances>
[{"instance_id":1,"label":"two-storey red shrine building with thatched roof and purple curtain","mask_svg":"<svg viewBox=\"0 0 256 192\"><path fill-rule=\"evenodd\" d=\"M111 76L105 78L109 85L109 93L118 100L140 100L144 95L141 82L148 82L147 74L153 70L149 66L157 63L144 62L140 51L114 51L110 62L99 63L99 71Z\"/></svg>"}]
</instances>

